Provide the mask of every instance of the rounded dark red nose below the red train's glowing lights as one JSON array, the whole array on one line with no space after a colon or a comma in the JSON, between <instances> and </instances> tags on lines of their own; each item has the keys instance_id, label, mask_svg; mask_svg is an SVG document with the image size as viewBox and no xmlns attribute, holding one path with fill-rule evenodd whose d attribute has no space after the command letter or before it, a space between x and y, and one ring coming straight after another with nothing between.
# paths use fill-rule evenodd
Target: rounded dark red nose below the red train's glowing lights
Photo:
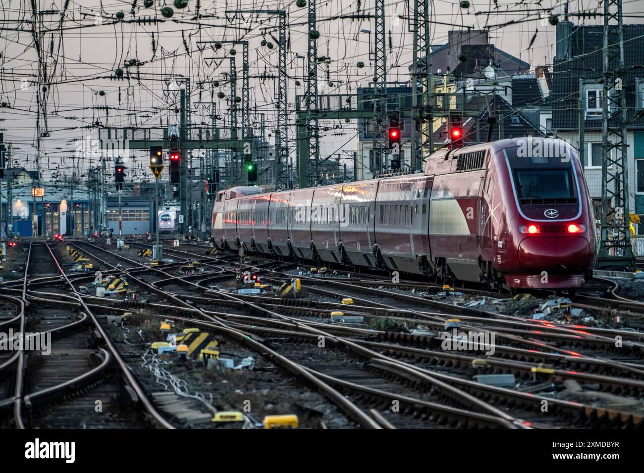
<instances>
[{"instance_id":1,"label":"rounded dark red nose below the red train's glowing lights","mask_svg":"<svg viewBox=\"0 0 644 473\"><path fill-rule=\"evenodd\" d=\"M584 237L528 237L518 248L521 266L539 270L589 268L594 263L593 252Z\"/></svg>"}]
</instances>

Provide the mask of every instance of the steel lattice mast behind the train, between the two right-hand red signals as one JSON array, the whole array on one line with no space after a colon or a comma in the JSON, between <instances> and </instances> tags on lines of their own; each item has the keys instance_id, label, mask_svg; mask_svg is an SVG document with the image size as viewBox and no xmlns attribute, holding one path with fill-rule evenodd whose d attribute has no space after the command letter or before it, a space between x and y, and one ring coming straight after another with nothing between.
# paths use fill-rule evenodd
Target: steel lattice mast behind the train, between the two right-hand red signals
<instances>
[{"instance_id":1,"label":"steel lattice mast behind the train, between the two right-hand red signals","mask_svg":"<svg viewBox=\"0 0 644 473\"><path fill-rule=\"evenodd\" d=\"M431 64L429 0L414 0L412 62L412 170L422 171L433 152L431 142Z\"/></svg>"}]
</instances>

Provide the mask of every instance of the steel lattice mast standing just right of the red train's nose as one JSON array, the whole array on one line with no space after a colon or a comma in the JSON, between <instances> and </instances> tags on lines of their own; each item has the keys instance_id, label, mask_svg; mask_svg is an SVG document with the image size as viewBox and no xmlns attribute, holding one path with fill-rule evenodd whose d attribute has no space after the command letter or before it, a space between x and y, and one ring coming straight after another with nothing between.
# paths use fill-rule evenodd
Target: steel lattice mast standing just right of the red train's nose
<instances>
[{"instance_id":1,"label":"steel lattice mast standing just right of the red train's nose","mask_svg":"<svg viewBox=\"0 0 644 473\"><path fill-rule=\"evenodd\" d=\"M621 0L604 0L601 245L598 266L632 267Z\"/></svg>"}]
</instances>

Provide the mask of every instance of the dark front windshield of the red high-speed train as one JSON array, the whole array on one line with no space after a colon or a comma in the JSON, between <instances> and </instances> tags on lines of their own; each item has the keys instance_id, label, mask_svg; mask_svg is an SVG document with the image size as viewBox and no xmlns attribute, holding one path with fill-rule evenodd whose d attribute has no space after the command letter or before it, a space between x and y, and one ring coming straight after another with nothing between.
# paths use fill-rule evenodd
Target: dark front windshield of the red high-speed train
<instances>
[{"instance_id":1,"label":"dark front windshield of the red high-speed train","mask_svg":"<svg viewBox=\"0 0 644 473\"><path fill-rule=\"evenodd\" d=\"M570 171L561 169L516 169L516 192L520 199L569 199L573 197Z\"/></svg>"}]
</instances>

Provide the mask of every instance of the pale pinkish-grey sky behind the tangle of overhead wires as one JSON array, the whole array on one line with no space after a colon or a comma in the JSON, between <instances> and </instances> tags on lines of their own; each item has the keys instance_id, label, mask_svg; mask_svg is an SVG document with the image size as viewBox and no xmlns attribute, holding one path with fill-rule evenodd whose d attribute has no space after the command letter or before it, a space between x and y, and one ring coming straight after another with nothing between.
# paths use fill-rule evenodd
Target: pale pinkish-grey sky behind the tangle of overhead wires
<instances>
[{"instance_id":1,"label":"pale pinkish-grey sky behind the tangle of overhead wires","mask_svg":"<svg viewBox=\"0 0 644 473\"><path fill-rule=\"evenodd\" d=\"M43 10L61 10L64 1L37 1L38 8ZM171 4L171 2L168 2ZM229 71L230 45L224 44L220 50L214 50L209 44L198 46L198 41L249 41L249 62L251 75L267 72L276 74L278 64L277 46L270 50L260 46L260 41L276 43L270 35L278 36L278 18L275 15L246 14L226 15L225 10L249 8L261 10L286 10L287 37L290 48L287 55L288 64L288 101L294 108L296 94L304 93L303 59L307 48L307 7L298 8L295 1L201 1L201 19L194 19L196 14L195 0L189 7L176 10L173 17L164 23L112 24L119 11L124 12L124 19L156 17L160 14L162 2L156 1L155 8L144 8L142 1L136 1L132 15L133 2L106 0L69 1L68 9L61 21L60 14L43 14L33 17L30 3L19 0L3 0L0 9L0 101L10 104L12 109L0 108L0 127L5 129L5 142L14 145L14 164L35 168L36 122L37 122L37 88L46 86L41 92L41 112L46 111L46 120L41 115L41 133L49 136L41 138L41 167L45 173L59 166L63 172L71 172L72 167L86 169L95 165L97 158L86 156L73 159L76 145L74 140L90 135L97 138L97 129L91 127L96 122L109 126L158 126L173 124L178 119L171 104L178 100L179 77L190 77L193 102L192 122L209 123L210 102L215 102L218 115L222 116L220 124L229 124L229 104L227 98L219 99L216 93L222 91L228 97L227 83L213 86L214 80L225 82ZM491 41L498 48L526 60L533 67L551 64L555 51L555 27L545 20L544 7L553 8L553 12L562 14L564 3L544 0L541 7L535 2L507 2L499 0L470 0L469 8L460 8L458 1L434 0L431 2L433 12L432 44L446 42L447 32L463 26L481 29L489 26ZM54 6L55 5L55 6ZM360 12L358 8L360 5ZM413 6L413 2L411 4ZM600 5L595 0L572 1L571 13L594 10ZM625 0L623 2L625 23L641 23L642 2ZM374 2L370 0L319 1L317 8L318 27L321 33L318 40L318 56L330 57L332 62L319 68L322 93L354 93L358 86L366 86L372 77L372 63L369 60L370 35L361 30L374 31L372 19L352 19L348 15L372 14ZM408 32L407 17L412 16L405 1L386 2L387 66L388 80L408 81L408 65L411 61L412 34ZM600 8L600 12L603 7ZM629 16L629 15L632 15ZM337 18L344 16L345 18ZM401 16L403 17L401 19ZM38 55L34 47L31 32L34 19L42 20L37 30L42 33L41 57L43 69L46 68L45 83L38 84ZM510 21L515 23L508 24ZM582 20L573 17L574 23L600 24L601 17ZM443 24L444 23L444 24ZM538 30L538 32L537 32ZM389 32L391 34L389 35ZM536 33L536 37L535 37ZM529 44L535 37L531 48ZM154 38L154 40L153 40ZM153 52L153 41L155 51ZM371 35L373 41L373 35ZM184 44L185 43L185 44ZM187 46L187 50L185 46ZM238 77L241 79L242 48L238 51L236 63ZM117 68L125 69L126 60L138 60L142 64L129 68L129 80L110 80ZM363 69L358 69L358 61L365 62ZM138 69L138 80L137 80ZM327 79L328 77L328 79ZM301 86L296 86L296 81ZM333 82L334 87L329 87ZM238 82L240 88L241 82ZM251 81L251 107L256 113L265 113L267 133L274 127L274 97L276 97L276 80L254 79ZM105 95L99 95L104 91ZM238 91L238 95L241 95ZM199 103L200 102L200 103ZM93 107L116 107L114 109L97 109ZM290 122L294 116L290 116ZM353 151L357 147L356 124L352 122L328 123L330 127L340 128L325 133L321 146L321 156L339 153L341 150ZM81 127L90 127L82 129ZM294 128L290 129L290 140ZM274 138L270 138L274 140ZM295 145L290 142L291 156L294 156ZM131 163L132 167L147 165L145 159ZM346 156L346 154L345 154ZM131 176L138 179L149 179L147 171L133 172Z\"/></svg>"}]
</instances>

